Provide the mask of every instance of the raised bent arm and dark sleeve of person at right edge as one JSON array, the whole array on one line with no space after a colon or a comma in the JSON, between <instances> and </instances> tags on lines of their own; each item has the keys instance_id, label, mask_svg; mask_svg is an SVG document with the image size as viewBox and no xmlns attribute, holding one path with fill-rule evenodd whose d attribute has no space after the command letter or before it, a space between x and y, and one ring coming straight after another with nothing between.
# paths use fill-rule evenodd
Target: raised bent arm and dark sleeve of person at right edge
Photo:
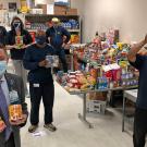
<instances>
[{"instance_id":1,"label":"raised bent arm and dark sleeve of person at right edge","mask_svg":"<svg viewBox=\"0 0 147 147\"><path fill-rule=\"evenodd\" d=\"M127 54L127 59L130 63L136 68L137 70L140 69L142 63L144 61L144 56L142 56L142 48L147 44L147 35L145 36L145 39L142 40L138 44L135 44L131 47L131 50Z\"/></svg>"}]
</instances>

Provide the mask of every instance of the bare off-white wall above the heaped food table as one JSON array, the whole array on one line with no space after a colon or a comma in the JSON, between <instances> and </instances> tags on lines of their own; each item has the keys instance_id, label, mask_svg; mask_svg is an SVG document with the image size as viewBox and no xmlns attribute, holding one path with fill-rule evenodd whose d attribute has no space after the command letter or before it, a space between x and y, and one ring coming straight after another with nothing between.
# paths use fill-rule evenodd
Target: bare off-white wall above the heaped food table
<instances>
[{"instance_id":1,"label":"bare off-white wall above the heaped food table","mask_svg":"<svg viewBox=\"0 0 147 147\"><path fill-rule=\"evenodd\" d=\"M137 41L147 33L147 0L84 0L83 36L119 28L122 41Z\"/></svg>"}]
</instances>

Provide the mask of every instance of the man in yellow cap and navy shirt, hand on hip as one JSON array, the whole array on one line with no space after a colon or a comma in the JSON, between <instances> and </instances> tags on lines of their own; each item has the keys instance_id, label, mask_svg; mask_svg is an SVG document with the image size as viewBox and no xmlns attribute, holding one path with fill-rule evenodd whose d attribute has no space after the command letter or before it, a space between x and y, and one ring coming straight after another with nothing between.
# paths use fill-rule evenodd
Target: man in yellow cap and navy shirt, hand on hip
<instances>
[{"instance_id":1,"label":"man in yellow cap and navy shirt, hand on hip","mask_svg":"<svg viewBox=\"0 0 147 147\"><path fill-rule=\"evenodd\" d=\"M47 42L49 42L56 49L57 56L62 62L63 71L68 72L68 63L65 59L64 47L71 39L71 34L62 26L59 25L58 17L51 20L52 26L47 29Z\"/></svg>"}]
</instances>

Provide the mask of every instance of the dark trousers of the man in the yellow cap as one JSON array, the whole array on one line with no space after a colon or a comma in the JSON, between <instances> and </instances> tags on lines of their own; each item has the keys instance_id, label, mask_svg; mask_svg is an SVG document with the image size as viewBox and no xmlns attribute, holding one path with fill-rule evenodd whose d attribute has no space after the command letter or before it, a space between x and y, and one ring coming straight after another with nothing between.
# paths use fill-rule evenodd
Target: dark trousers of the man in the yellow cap
<instances>
[{"instance_id":1,"label":"dark trousers of the man in the yellow cap","mask_svg":"<svg viewBox=\"0 0 147 147\"><path fill-rule=\"evenodd\" d=\"M61 60L62 66L63 66L63 71L66 73L68 72L68 63L66 63L66 59L65 59L65 52L64 49L57 49L57 56L59 56L59 59Z\"/></svg>"}]
</instances>

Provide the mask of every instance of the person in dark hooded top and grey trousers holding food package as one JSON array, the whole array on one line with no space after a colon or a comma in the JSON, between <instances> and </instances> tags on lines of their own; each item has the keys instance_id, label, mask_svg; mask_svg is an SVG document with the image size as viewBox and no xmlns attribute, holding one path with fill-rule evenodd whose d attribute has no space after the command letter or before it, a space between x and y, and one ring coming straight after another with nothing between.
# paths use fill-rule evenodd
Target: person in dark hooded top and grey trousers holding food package
<instances>
[{"instance_id":1,"label":"person in dark hooded top and grey trousers holding food package","mask_svg":"<svg viewBox=\"0 0 147 147\"><path fill-rule=\"evenodd\" d=\"M29 33L24 29L22 20L15 16L11 23L11 30L7 36L7 48L10 49L11 59L13 61L15 74L23 77L25 86L25 95L28 96L26 86L26 70L23 68L23 57L25 49L33 42Z\"/></svg>"}]
</instances>

